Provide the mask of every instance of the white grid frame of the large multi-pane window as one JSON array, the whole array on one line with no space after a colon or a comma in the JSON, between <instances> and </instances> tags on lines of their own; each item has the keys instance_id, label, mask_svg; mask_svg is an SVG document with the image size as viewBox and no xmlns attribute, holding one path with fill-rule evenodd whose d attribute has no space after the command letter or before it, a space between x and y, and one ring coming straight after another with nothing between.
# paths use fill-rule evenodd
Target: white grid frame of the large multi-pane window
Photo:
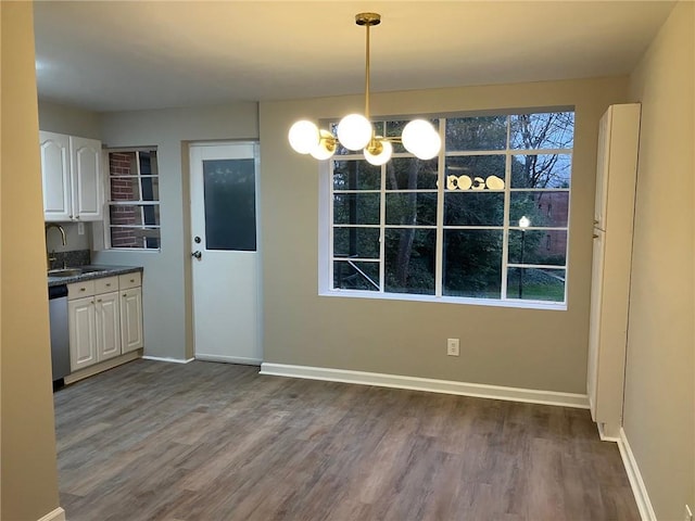
<instances>
[{"instance_id":1,"label":"white grid frame of the large multi-pane window","mask_svg":"<svg viewBox=\"0 0 695 521\"><path fill-rule=\"evenodd\" d=\"M547 113L573 113L574 124L572 126L572 143L571 148L553 148L553 149L516 149L511 143L510 132L511 124L510 117L522 114L547 114ZM321 296L344 296L344 297L358 297L358 298L380 298L380 300L396 300L396 301L416 301L416 302L442 302L451 304L468 304L468 305L482 305L482 306L496 306L496 307L516 307L516 308L534 308L534 309L549 309L549 310L566 310L568 305L568 274L570 271L569 262L569 241L570 241L570 220L571 220L571 193L572 193L572 174L573 174L573 158L576 147L576 107L574 106L553 106L553 107L532 107L527 110L516 111L479 111L476 113L444 113L429 116L431 119L437 119L439 125L439 134L442 140L442 150L437 156L437 176L438 186L435 189L416 189L416 190L388 190L387 188L387 165L381 166L380 173L380 188L379 190L356 190L359 193L375 192L379 193L380 206L379 206L379 224L378 225L338 225L333 221L334 215L334 202L333 196L336 193L349 193L348 190L334 190L333 187L333 164L338 161L361 161L364 160L362 153L348 152L340 155L334 155L328 161L319 164L319 281L318 293ZM504 149L500 150L454 150L447 151L445 149L445 134L446 134L446 119L447 118L462 118L462 117L480 117L480 116L505 116L506 117L506 143ZM415 118L417 116L410 116ZM379 117L375 118L378 122L397 122L403 120L404 117ZM326 122L328 125L334 125L332 122ZM511 185L511 164L514 156L517 155L543 155L543 154L561 154L569 157L569 187L568 188L513 188ZM465 157L465 156L483 156L483 155L501 155L504 157L505 163L505 177L504 188L497 190L485 189L483 192L501 192L504 193L504 206L503 206L503 223L502 226L459 226L459 225L445 225L444 224L444 207L445 207L445 194L452 193L446 189L446 160L448 157ZM391 158L400 157L414 157L413 154L407 152L394 152ZM435 193L437 194L437 223L434 226L422 225L388 225L386 220L386 198L389 193ZM470 192L470 190L469 190ZM513 193L522 192L566 192L567 193L567 223L566 226L529 226L525 229L519 227L516 223L511 223L511 207L510 199ZM460 193L466 193L460 192ZM340 289L333 288L333 270L337 260L340 260L340 256L337 256L333 252L334 246L334 230L336 228L375 228L379 230L379 258L363 259L359 262L378 263L379 265L379 289L377 291L361 290L361 289ZM419 294L419 293L394 293L386 291L386 232L389 229L399 228L414 228L416 230L433 229L437 236L434 245L434 293L433 294ZM460 230L500 230L502 231L502 258L501 258L501 292L498 298L485 298L485 297L472 297L472 296L453 296L446 295L443 291L444 284L444 231L451 229ZM563 265L546 265L546 264L530 264L526 262L511 262L509 258L509 238L510 231L521 230L526 232L564 232L566 233L565 241L565 263ZM548 237L549 240L549 237ZM344 257L342 257L344 258ZM520 259L519 259L520 260ZM508 283L509 283L509 269L549 269L564 271L564 296L561 301L548 301L548 300L532 300L520 298L510 296Z\"/></svg>"}]
</instances>

